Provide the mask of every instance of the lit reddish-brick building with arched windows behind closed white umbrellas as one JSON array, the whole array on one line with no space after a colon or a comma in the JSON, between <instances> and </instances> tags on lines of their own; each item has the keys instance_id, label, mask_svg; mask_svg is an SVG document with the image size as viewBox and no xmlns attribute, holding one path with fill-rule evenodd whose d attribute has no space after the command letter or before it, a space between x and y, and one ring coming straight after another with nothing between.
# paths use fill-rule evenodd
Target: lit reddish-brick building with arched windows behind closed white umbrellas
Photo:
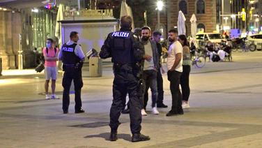
<instances>
[{"instance_id":1,"label":"lit reddish-brick building with arched windows behind closed white umbrellas","mask_svg":"<svg viewBox=\"0 0 262 148\"><path fill-rule=\"evenodd\" d=\"M160 28L167 32L177 26L178 11L182 10L186 17L186 31L187 36L190 36L191 22L190 18L194 13L196 15L196 24L198 28L203 28L205 32L212 32L216 30L217 13L216 0L164 0L164 8L160 13ZM151 3L156 8L156 3ZM152 28L157 27L157 10L153 13ZM150 24L149 24L150 25ZM166 34L164 34L166 36Z\"/></svg>"}]
</instances>

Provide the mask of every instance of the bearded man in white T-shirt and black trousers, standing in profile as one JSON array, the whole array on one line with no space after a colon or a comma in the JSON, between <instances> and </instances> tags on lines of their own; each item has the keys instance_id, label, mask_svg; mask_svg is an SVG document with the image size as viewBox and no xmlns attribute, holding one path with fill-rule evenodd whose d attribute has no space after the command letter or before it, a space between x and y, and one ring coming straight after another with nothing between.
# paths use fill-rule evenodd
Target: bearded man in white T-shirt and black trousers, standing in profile
<instances>
[{"instance_id":1,"label":"bearded man in white T-shirt and black trousers, standing in profile","mask_svg":"<svg viewBox=\"0 0 262 148\"><path fill-rule=\"evenodd\" d=\"M167 113L167 116L184 114L182 108L182 96L179 89L180 75L183 72L183 47L177 40L178 31L171 29L169 31L169 51L167 57L167 77L170 81L170 90L172 96L172 108Z\"/></svg>"}]
</instances>

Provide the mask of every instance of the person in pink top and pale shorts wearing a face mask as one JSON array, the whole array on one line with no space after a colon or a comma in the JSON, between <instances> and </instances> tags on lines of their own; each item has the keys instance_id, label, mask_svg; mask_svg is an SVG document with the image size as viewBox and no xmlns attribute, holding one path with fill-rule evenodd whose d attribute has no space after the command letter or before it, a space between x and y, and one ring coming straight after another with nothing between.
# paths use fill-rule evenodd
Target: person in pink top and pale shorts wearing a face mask
<instances>
[{"instance_id":1,"label":"person in pink top and pale shorts wearing a face mask","mask_svg":"<svg viewBox=\"0 0 262 148\"><path fill-rule=\"evenodd\" d=\"M56 98L54 91L56 89L56 74L57 74L57 66L56 61L58 56L58 49L53 47L54 40L52 38L47 38L47 46L43 49L43 54L45 57L45 98L49 99L48 96L48 87L49 80L52 79L52 96L51 98Z\"/></svg>"}]
</instances>

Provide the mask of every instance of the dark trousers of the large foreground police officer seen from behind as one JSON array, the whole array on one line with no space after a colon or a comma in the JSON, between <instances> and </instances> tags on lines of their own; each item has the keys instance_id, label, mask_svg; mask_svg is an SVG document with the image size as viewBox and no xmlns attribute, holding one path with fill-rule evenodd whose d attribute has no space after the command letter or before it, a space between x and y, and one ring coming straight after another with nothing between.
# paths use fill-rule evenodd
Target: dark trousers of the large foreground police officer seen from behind
<instances>
[{"instance_id":1,"label":"dark trousers of the large foreground police officer seen from behind","mask_svg":"<svg viewBox=\"0 0 262 148\"><path fill-rule=\"evenodd\" d=\"M113 103L110 110L111 132L116 133L119 125L119 117L123 109L126 92L130 103L130 128L132 134L141 131L141 99L138 95L139 81L132 73L132 68L114 68Z\"/></svg>"}]
</instances>

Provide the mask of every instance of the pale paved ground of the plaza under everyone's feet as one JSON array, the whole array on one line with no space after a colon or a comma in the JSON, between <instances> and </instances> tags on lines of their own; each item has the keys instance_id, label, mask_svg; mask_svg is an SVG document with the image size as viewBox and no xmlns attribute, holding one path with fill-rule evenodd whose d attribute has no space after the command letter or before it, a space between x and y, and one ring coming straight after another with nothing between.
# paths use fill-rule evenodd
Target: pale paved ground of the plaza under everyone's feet
<instances>
[{"instance_id":1,"label":"pale paved ground of the plaza under everyone's feet","mask_svg":"<svg viewBox=\"0 0 262 148\"><path fill-rule=\"evenodd\" d=\"M153 115L148 105L141 131L151 136L147 142L130 142L128 114L121 115L119 139L108 140L111 64L104 65L103 77L89 77L87 66L83 71L84 114L74 114L73 95L69 114L62 114L61 99L45 100L43 73L0 77L0 147L262 147L262 52L236 52L233 62L192 67L191 108L166 117L169 109ZM61 73L56 86L61 97Z\"/></svg>"}]
</instances>

